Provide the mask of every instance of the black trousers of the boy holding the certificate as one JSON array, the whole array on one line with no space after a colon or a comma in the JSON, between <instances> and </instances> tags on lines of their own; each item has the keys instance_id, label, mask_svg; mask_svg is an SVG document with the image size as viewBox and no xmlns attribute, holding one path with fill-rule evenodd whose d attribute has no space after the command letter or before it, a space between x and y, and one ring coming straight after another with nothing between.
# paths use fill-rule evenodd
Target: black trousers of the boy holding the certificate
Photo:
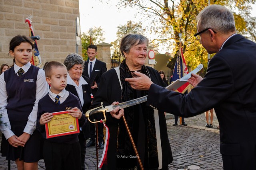
<instances>
[{"instance_id":1,"label":"black trousers of the boy holding the certificate","mask_svg":"<svg viewBox=\"0 0 256 170\"><path fill-rule=\"evenodd\" d=\"M79 142L63 144L45 140L43 157L46 170L81 170Z\"/></svg>"}]
</instances>

